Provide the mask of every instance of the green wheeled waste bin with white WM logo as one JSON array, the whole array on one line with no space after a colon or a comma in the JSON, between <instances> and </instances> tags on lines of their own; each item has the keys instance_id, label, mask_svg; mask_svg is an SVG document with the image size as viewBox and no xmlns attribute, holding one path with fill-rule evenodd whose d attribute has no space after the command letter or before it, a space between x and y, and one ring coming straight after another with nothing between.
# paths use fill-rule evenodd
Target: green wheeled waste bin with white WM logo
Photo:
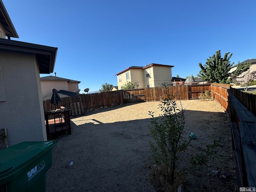
<instances>
[{"instance_id":1,"label":"green wheeled waste bin with white WM logo","mask_svg":"<svg viewBox=\"0 0 256 192\"><path fill-rule=\"evenodd\" d=\"M0 192L45 192L56 142L21 142L0 150Z\"/></svg>"}]
</instances>

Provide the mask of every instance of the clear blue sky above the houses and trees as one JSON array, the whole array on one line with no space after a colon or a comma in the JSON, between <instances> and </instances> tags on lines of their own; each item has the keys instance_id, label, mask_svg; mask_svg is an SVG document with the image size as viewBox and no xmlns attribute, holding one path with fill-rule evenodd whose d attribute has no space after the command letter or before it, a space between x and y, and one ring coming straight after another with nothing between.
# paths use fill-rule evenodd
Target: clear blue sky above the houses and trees
<instances>
[{"instance_id":1,"label":"clear blue sky above the houses and trees","mask_svg":"<svg viewBox=\"0 0 256 192\"><path fill-rule=\"evenodd\" d=\"M185 78L217 50L235 64L256 58L255 0L2 1L12 39L58 47L54 72L81 81L81 92L116 86L130 66L173 65Z\"/></svg>"}]
</instances>

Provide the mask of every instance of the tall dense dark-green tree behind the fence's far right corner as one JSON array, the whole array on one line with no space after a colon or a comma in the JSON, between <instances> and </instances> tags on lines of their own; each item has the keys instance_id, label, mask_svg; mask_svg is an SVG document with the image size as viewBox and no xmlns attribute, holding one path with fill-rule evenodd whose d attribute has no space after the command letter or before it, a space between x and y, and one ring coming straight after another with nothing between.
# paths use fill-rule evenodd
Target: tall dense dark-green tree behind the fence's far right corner
<instances>
[{"instance_id":1,"label":"tall dense dark-green tree behind the fence's far right corner","mask_svg":"<svg viewBox=\"0 0 256 192\"><path fill-rule=\"evenodd\" d=\"M234 62L230 63L229 61L232 53L229 56L228 54L230 52L225 53L222 58L220 50L218 50L216 54L206 60L204 65L199 63L201 70L197 76L201 77L204 81L210 81L212 83L226 83L230 76L230 68L234 64Z\"/></svg>"}]
</instances>

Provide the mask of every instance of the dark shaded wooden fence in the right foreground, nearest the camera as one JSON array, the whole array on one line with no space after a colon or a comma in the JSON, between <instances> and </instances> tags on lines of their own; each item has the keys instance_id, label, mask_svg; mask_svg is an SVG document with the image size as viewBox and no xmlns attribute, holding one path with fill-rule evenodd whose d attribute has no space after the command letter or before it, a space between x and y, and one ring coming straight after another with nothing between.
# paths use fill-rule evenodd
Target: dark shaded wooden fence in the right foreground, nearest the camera
<instances>
[{"instance_id":1,"label":"dark shaded wooden fence in the right foreground, nearest the camera","mask_svg":"<svg viewBox=\"0 0 256 192\"><path fill-rule=\"evenodd\" d=\"M228 94L238 187L256 187L256 117L239 102L231 89Z\"/></svg>"}]
</instances>

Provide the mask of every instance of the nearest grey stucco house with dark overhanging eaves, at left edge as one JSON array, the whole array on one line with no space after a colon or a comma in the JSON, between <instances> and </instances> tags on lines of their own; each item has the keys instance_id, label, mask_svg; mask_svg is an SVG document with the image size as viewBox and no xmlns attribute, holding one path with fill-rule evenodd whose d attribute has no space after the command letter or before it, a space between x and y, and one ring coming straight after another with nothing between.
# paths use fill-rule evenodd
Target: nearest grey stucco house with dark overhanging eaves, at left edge
<instances>
[{"instance_id":1,"label":"nearest grey stucco house with dark overhanging eaves, at left edge","mask_svg":"<svg viewBox=\"0 0 256 192\"><path fill-rule=\"evenodd\" d=\"M18 37L0 0L0 128L9 146L47 140L40 74L53 72L58 50L10 39Z\"/></svg>"}]
</instances>

